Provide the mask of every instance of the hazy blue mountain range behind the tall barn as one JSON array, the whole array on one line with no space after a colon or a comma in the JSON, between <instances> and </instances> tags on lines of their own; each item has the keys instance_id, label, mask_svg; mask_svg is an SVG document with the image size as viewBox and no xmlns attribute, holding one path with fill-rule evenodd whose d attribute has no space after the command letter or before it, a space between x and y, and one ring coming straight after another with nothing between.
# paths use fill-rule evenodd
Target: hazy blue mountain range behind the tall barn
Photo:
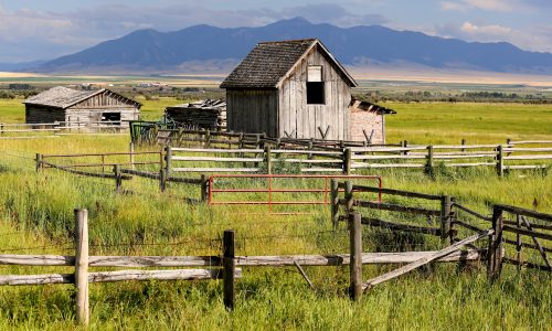
<instances>
[{"instance_id":1,"label":"hazy blue mountain range behind the tall barn","mask_svg":"<svg viewBox=\"0 0 552 331\"><path fill-rule=\"evenodd\" d=\"M465 42L380 25L339 28L302 18L261 28L195 25L140 30L42 64L43 72L227 72L261 41L318 38L346 65L413 65L551 74L552 54L506 43Z\"/></svg>"}]
</instances>

